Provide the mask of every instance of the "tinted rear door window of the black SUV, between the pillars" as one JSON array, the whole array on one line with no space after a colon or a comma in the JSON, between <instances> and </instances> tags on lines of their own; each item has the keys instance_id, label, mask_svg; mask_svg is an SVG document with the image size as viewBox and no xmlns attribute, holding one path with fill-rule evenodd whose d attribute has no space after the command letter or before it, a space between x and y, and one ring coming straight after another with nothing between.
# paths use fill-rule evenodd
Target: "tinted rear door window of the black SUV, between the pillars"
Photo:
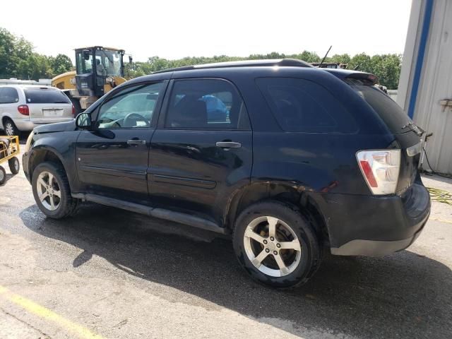
<instances>
[{"instance_id":1,"label":"tinted rear door window of the black SUV, between the pillars","mask_svg":"<svg viewBox=\"0 0 452 339\"><path fill-rule=\"evenodd\" d=\"M234 86L220 79L174 82L167 128L249 129L246 107Z\"/></svg>"}]
</instances>

